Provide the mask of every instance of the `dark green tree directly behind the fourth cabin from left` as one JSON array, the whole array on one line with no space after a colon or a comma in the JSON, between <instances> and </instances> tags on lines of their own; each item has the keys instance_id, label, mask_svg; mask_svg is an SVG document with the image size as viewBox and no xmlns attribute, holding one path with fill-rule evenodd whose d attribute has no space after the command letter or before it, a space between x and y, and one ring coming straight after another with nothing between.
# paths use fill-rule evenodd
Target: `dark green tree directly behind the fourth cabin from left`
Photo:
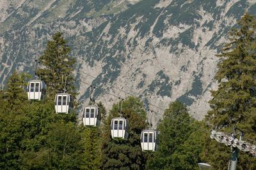
<instances>
[{"instance_id":1,"label":"dark green tree directly behind the fourth cabin from left","mask_svg":"<svg viewBox=\"0 0 256 170\"><path fill-rule=\"evenodd\" d=\"M114 104L102 129L101 169L143 169L145 155L140 146L140 133L146 127L143 104L134 97L127 97L123 103L122 113L129 121L129 138L126 140L111 139L111 119L119 117L118 113L118 104Z\"/></svg>"}]
</instances>

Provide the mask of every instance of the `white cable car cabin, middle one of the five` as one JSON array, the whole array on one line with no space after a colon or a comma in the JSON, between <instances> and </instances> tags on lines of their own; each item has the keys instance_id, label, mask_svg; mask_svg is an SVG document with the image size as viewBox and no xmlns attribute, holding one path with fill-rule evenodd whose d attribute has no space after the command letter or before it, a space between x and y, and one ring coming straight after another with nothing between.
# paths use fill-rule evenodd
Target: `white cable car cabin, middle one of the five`
<instances>
[{"instance_id":1,"label":"white cable car cabin, middle one of the five","mask_svg":"<svg viewBox=\"0 0 256 170\"><path fill-rule=\"evenodd\" d=\"M83 124L97 126L100 124L99 108L97 106L86 106L83 108Z\"/></svg>"}]
</instances>

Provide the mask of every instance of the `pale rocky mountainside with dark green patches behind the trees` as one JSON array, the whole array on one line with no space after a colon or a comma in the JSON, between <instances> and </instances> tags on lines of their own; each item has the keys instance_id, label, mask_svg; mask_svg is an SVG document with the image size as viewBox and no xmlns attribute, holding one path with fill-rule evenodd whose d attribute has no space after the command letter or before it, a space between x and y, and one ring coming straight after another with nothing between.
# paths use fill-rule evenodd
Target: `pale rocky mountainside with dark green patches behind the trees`
<instances>
[{"instance_id":1,"label":"pale rocky mountainside with dark green patches behind the trees","mask_svg":"<svg viewBox=\"0 0 256 170\"><path fill-rule=\"evenodd\" d=\"M88 103L86 83L92 84L96 101L108 109L115 96L140 97L156 111L155 123L175 100L204 118L209 90L218 88L216 54L244 11L256 12L252 0L3 0L0 6L2 86L14 69L32 73L31 61L62 31L78 61L82 104Z\"/></svg>"}]
</instances>

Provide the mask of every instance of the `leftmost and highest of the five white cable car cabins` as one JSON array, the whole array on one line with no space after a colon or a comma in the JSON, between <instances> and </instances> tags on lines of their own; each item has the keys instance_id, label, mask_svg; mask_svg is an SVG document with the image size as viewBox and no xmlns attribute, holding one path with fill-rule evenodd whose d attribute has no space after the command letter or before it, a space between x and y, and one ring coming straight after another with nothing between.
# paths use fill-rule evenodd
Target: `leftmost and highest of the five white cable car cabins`
<instances>
[{"instance_id":1,"label":"leftmost and highest of the five white cable car cabins","mask_svg":"<svg viewBox=\"0 0 256 170\"><path fill-rule=\"evenodd\" d=\"M45 97L46 85L41 80L31 80L28 82L28 100L40 101Z\"/></svg>"}]
</instances>

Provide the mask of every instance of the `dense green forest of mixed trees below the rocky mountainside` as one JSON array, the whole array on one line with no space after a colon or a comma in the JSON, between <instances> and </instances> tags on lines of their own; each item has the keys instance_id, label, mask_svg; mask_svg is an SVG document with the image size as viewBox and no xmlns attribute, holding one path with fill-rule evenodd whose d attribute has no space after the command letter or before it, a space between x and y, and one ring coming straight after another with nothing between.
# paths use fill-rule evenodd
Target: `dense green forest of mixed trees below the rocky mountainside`
<instances>
[{"instance_id":1,"label":"dense green forest of mixed trees below the rocky mountainside","mask_svg":"<svg viewBox=\"0 0 256 170\"><path fill-rule=\"evenodd\" d=\"M141 131L150 125L139 98L122 101L122 116L129 120L127 139L111 138L111 119L120 115L119 102L107 113L99 99L95 104L100 125L79 124L72 75L76 59L69 55L63 34L54 34L38 57L40 67L35 67L36 76L47 85L45 99L29 101L25 89L33 75L17 71L0 91L0 169L198 169L199 162L227 169L230 147L211 139L212 129L230 133L237 127L243 129L244 140L256 141L256 21L246 13L238 25L218 55L219 87L211 92L211 110L198 121L184 104L170 103L157 123L156 152L141 150ZM73 96L75 109L56 114L54 97L63 89ZM255 155L239 152L237 169L256 169Z\"/></svg>"}]
</instances>

